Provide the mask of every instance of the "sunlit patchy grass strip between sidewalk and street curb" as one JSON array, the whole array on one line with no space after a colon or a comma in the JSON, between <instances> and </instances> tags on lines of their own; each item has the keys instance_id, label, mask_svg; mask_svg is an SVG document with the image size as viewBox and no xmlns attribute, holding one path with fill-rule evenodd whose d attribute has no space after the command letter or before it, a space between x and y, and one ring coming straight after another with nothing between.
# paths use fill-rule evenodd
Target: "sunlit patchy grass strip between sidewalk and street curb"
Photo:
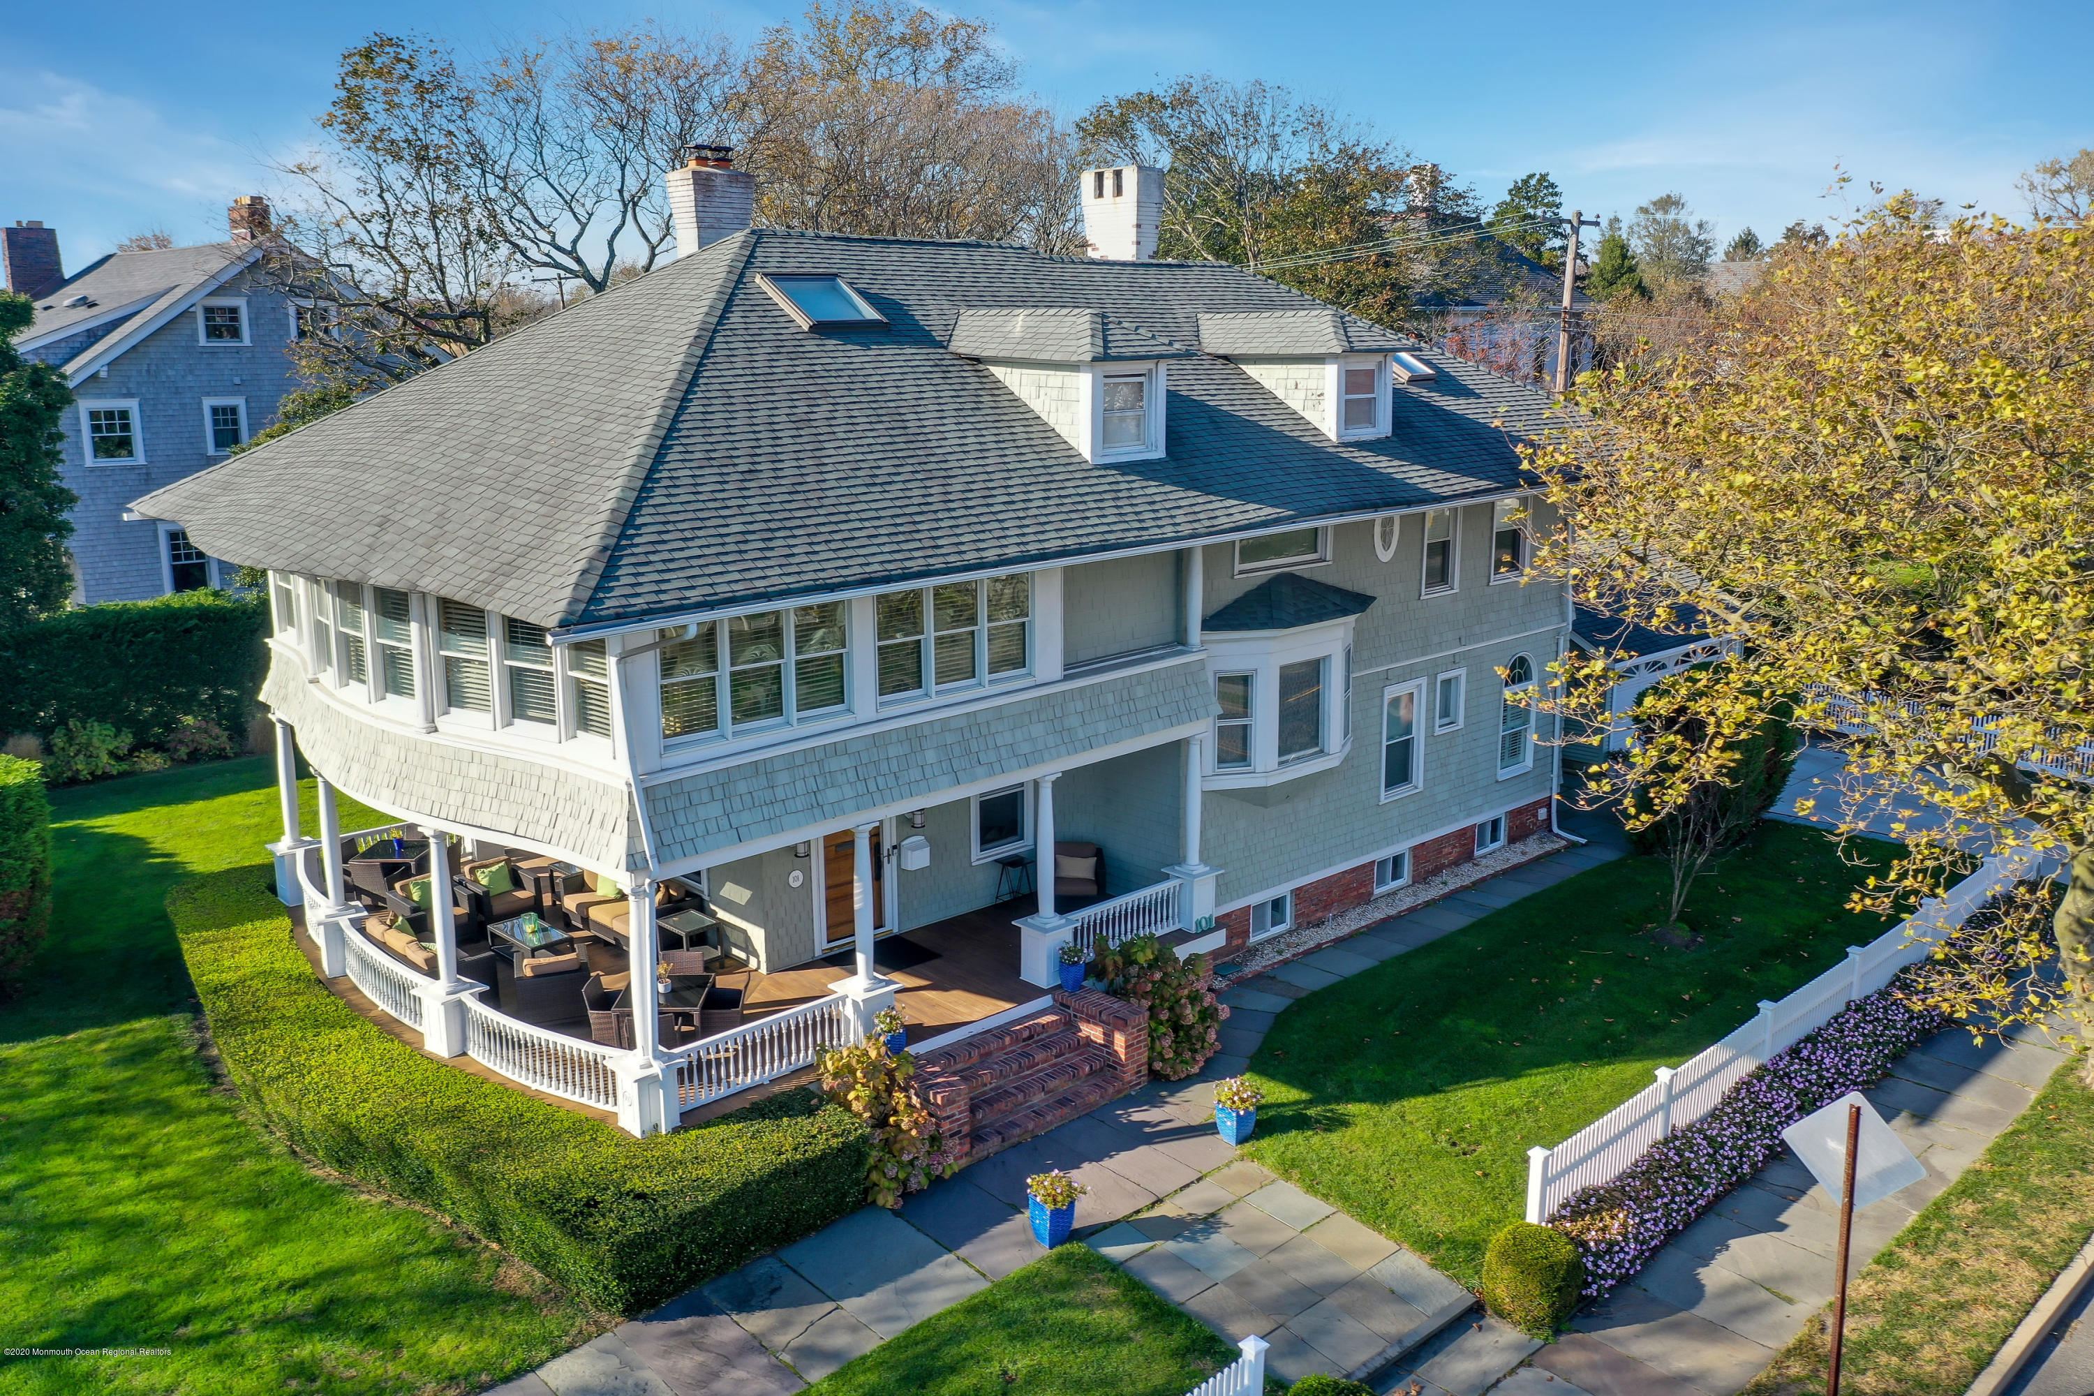
<instances>
[{"instance_id":1,"label":"sunlit patchy grass strip between sidewalk and street curb","mask_svg":"<svg viewBox=\"0 0 2094 1396\"><path fill-rule=\"evenodd\" d=\"M1958 1396L2086 1243L2094 1090L2077 1067L2058 1067L2021 1120L1853 1277L1843 1392ZM1826 1333L1820 1312L1746 1396L1820 1396Z\"/></svg>"}]
</instances>

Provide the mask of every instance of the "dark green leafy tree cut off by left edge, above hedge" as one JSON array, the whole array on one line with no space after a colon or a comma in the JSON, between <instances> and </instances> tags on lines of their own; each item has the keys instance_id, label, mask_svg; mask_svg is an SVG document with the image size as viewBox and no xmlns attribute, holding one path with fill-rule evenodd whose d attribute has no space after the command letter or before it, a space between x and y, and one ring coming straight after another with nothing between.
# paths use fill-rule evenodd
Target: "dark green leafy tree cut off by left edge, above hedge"
<instances>
[{"instance_id":1,"label":"dark green leafy tree cut off by left edge, above hedge","mask_svg":"<svg viewBox=\"0 0 2094 1396\"><path fill-rule=\"evenodd\" d=\"M0 630L57 611L73 590L65 513L80 496L59 483L73 389L15 347L34 320L29 297L0 291Z\"/></svg>"}]
</instances>

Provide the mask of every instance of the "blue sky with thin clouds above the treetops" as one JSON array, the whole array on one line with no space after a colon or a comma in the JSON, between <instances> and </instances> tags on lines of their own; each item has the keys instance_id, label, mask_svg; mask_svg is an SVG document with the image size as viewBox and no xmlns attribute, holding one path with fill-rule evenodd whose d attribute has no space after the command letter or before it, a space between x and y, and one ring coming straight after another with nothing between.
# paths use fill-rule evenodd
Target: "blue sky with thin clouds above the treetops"
<instances>
[{"instance_id":1,"label":"blue sky with thin clouds above the treetops","mask_svg":"<svg viewBox=\"0 0 2094 1396\"><path fill-rule=\"evenodd\" d=\"M955 0L1024 82L1074 115L1189 71L1326 100L1485 195L1547 170L1568 203L1629 216L1684 193L1721 237L1834 220L1834 165L2019 211L2014 174L2094 147L2094 6L1453 4ZM0 220L59 228L69 268L161 226L224 237L325 109L335 59L373 29L463 50L655 17L752 36L800 4L4 0ZM1372 23L1361 17L1372 15Z\"/></svg>"}]
</instances>

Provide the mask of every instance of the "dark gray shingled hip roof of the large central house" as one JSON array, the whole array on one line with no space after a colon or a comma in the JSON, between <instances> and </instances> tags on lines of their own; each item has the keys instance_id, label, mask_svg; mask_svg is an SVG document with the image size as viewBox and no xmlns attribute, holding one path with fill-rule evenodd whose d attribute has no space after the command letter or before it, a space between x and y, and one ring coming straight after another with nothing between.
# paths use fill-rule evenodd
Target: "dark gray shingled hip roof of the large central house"
<instances>
[{"instance_id":1,"label":"dark gray shingled hip roof of the large central house","mask_svg":"<svg viewBox=\"0 0 2094 1396\"><path fill-rule=\"evenodd\" d=\"M840 274L888 324L802 331L756 272ZM1330 314L1219 262L752 230L136 509L214 557L622 626L1489 498L1547 410L1413 345L1439 379L1395 389L1390 437L1338 444L1202 354L1171 364L1166 454L1093 465L946 347L961 312L1022 303L1179 345L1206 314Z\"/></svg>"}]
</instances>

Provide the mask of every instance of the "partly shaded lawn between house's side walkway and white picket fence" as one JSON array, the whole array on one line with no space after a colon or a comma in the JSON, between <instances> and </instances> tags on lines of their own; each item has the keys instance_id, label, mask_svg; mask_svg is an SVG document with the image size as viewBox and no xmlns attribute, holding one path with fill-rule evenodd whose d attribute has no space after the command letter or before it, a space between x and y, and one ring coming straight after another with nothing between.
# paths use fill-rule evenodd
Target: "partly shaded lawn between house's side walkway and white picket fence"
<instances>
[{"instance_id":1,"label":"partly shaded lawn between house's side walkway and white picket fence","mask_svg":"<svg viewBox=\"0 0 2094 1396\"><path fill-rule=\"evenodd\" d=\"M1252 1059L1269 1099L1250 1153L1476 1285L1491 1233L1524 1208L1527 1149L1878 936L1841 910L1868 871L1815 829L1767 823L1694 887L1698 948L1646 936L1667 873L1623 858L1309 994Z\"/></svg>"}]
</instances>

